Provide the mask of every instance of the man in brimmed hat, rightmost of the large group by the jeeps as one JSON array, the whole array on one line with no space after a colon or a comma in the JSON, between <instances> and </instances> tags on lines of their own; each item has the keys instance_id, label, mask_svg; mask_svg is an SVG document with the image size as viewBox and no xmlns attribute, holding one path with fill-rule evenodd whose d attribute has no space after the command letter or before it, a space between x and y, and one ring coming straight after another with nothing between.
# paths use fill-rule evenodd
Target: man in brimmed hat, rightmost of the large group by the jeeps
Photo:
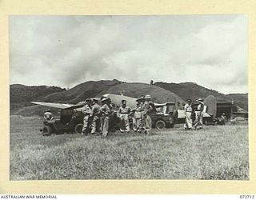
<instances>
[{"instance_id":1,"label":"man in brimmed hat, rightmost of the large group by the jeeps","mask_svg":"<svg viewBox=\"0 0 256 200\"><path fill-rule=\"evenodd\" d=\"M154 103L151 102L151 96L145 96L145 102L142 105L142 114L143 114L143 126L146 134L150 134L150 130L152 129L152 119L151 116L154 114Z\"/></svg>"}]
</instances>

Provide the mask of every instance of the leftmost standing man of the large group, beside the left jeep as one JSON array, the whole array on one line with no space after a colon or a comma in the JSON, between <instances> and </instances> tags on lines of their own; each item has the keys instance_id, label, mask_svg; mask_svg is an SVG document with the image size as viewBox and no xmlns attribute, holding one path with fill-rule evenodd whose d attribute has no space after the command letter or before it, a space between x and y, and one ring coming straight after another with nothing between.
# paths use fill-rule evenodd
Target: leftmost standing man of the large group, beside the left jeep
<instances>
[{"instance_id":1,"label":"leftmost standing man of the large group, beside the left jeep","mask_svg":"<svg viewBox=\"0 0 256 200\"><path fill-rule=\"evenodd\" d=\"M83 127L82 127L82 135L88 134L90 128L90 119L92 117L92 108L90 106L91 100L87 98L85 101L85 106L82 107L82 114L85 115L83 118Z\"/></svg>"}]
</instances>

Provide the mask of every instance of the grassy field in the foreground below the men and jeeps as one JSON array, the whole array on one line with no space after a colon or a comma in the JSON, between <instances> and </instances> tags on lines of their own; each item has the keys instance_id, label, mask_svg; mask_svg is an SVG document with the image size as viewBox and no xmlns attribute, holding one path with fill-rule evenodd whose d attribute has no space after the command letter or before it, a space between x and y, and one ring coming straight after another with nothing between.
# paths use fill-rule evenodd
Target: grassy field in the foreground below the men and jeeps
<instances>
[{"instance_id":1,"label":"grassy field in the foreground below the men and jeeps","mask_svg":"<svg viewBox=\"0 0 256 200\"><path fill-rule=\"evenodd\" d=\"M203 130L43 137L42 119L10 117L10 179L249 179L248 124Z\"/></svg>"}]
</instances>

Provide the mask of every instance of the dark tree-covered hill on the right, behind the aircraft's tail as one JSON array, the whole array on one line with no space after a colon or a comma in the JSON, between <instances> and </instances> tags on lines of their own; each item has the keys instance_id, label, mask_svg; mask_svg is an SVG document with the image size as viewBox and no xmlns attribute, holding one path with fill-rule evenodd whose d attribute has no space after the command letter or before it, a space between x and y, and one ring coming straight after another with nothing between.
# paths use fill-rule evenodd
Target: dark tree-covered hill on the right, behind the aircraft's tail
<instances>
[{"instance_id":1,"label":"dark tree-covered hill on the right, behind the aircraft's tail","mask_svg":"<svg viewBox=\"0 0 256 200\"><path fill-rule=\"evenodd\" d=\"M182 83L167 83L167 82L155 82L155 86L162 87L169 90L174 94L178 94L183 99L191 98L206 98L208 95L214 95L218 102L232 102L245 110L248 110L248 94L222 94L216 90L210 90L206 87L199 86L194 82L182 82Z\"/></svg>"}]
</instances>

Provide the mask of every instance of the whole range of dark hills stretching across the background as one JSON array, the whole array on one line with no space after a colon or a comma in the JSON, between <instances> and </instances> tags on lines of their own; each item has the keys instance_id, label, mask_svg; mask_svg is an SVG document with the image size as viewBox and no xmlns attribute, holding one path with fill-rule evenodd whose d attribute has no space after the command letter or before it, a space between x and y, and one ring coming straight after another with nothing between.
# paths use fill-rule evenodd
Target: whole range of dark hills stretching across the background
<instances>
[{"instance_id":1,"label":"whole range of dark hills stretching across the background","mask_svg":"<svg viewBox=\"0 0 256 200\"><path fill-rule=\"evenodd\" d=\"M139 82L123 83L114 79L83 82L70 90L59 87L11 85L10 114L42 115L46 107L34 106L31 101L76 104L86 98L101 97L102 94L123 94L133 98L150 94L154 102L176 102L177 106L181 106L183 99L186 98L206 98L208 95L214 95L218 102L231 102L233 99L236 105L248 110L248 94L221 94L193 82L155 82L154 85L150 85Z\"/></svg>"}]
</instances>

